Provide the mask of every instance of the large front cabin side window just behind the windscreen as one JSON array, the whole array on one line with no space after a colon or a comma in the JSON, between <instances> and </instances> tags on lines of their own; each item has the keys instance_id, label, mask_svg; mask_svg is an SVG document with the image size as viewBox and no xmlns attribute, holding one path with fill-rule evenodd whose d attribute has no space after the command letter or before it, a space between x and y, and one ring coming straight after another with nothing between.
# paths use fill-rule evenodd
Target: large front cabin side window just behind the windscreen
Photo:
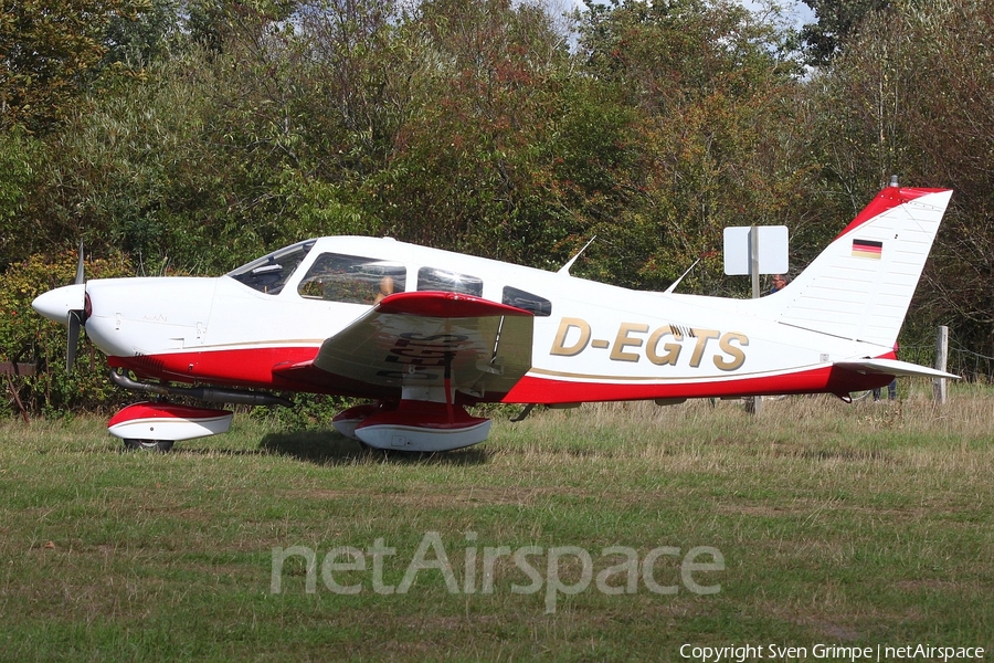
<instances>
[{"instance_id":1,"label":"large front cabin side window just behind the windscreen","mask_svg":"<svg viewBox=\"0 0 994 663\"><path fill-rule=\"evenodd\" d=\"M324 253L300 280L297 292L307 299L377 304L383 297L404 291L406 267L400 263Z\"/></svg>"}]
</instances>

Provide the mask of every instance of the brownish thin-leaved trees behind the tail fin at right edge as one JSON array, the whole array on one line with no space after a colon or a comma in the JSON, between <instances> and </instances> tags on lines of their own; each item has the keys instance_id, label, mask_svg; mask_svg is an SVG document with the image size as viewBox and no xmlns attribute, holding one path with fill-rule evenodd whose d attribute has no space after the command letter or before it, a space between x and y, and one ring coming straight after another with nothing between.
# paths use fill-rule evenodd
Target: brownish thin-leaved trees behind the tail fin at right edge
<instances>
[{"instance_id":1,"label":"brownish thin-leaved trees behind the tail fin at right edge","mask_svg":"<svg viewBox=\"0 0 994 663\"><path fill-rule=\"evenodd\" d=\"M924 337L949 325L984 355L994 343L992 21L990 3L960 0L879 17L814 81L825 181L840 209L859 209L891 173L955 191L911 324Z\"/></svg>"}]
</instances>

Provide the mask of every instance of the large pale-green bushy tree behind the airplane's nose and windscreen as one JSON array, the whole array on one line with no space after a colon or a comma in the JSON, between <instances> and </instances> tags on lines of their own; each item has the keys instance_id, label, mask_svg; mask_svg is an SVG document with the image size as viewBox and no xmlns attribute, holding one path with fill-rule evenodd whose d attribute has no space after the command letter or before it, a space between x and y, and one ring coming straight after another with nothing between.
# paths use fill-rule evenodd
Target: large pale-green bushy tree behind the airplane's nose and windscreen
<instances>
[{"instance_id":1,"label":"large pale-green bushy tree behind the airplane's nose and windscreen","mask_svg":"<svg viewBox=\"0 0 994 663\"><path fill-rule=\"evenodd\" d=\"M55 234L216 273L307 235L374 232L341 186L350 136L314 112L327 101L305 45L260 30L234 24L224 52L191 45L82 106L39 201Z\"/></svg>"}]
</instances>

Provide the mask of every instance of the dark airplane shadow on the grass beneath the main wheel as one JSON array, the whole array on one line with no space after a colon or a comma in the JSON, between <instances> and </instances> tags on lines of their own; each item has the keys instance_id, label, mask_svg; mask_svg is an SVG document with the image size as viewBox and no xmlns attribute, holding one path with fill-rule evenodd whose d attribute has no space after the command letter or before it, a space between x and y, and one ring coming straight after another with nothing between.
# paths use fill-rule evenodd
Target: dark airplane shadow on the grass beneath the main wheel
<instances>
[{"instance_id":1,"label":"dark airplane shadow on the grass beneath the main wheel","mask_svg":"<svg viewBox=\"0 0 994 663\"><path fill-rule=\"evenodd\" d=\"M263 453L292 456L317 465L345 465L362 462L429 465L479 465L487 462L483 449L461 449L443 453L382 451L367 449L356 440L332 431L293 431L268 433L258 443Z\"/></svg>"}]
</instances>

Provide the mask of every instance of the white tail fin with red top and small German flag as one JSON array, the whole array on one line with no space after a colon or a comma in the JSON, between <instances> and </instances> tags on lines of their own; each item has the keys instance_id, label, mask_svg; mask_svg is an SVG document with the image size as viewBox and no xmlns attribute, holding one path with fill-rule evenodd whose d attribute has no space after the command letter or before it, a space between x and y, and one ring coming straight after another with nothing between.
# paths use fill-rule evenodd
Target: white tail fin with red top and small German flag
<instances>
[{"instance_id":1,"label":"white tail fin with red top and small German flag","mask_svg":"<svg viewBox=\"0 0 994 663\"><path fill-rule=\"evenodd\" d=\"M880 191L789 286L763 298L774 319L892 348L951 196Z\"/></svg>"}]
</instances>

